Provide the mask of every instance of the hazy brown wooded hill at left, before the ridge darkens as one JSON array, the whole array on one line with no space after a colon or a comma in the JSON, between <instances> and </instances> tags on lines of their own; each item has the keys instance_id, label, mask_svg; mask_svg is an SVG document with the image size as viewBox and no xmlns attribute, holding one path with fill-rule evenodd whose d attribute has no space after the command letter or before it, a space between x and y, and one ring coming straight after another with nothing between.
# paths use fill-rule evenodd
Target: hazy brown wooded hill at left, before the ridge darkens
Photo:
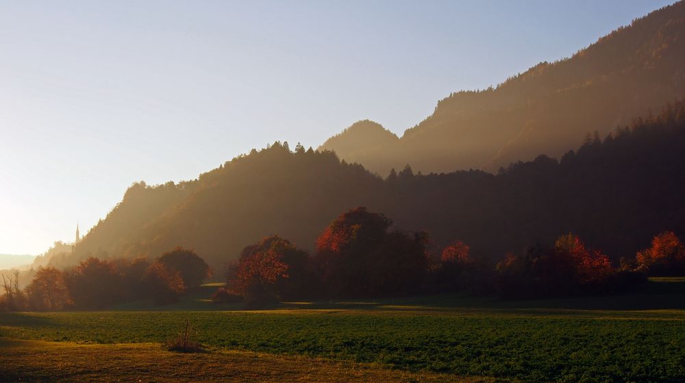
<instances>
[{"instance_id":1,"label":"hazy brown wooded hill at left, before the ridge darkens","mask_svg":"<svg viewBox=\"0 0 685 383\"><path fill-rule=\"evenodd\" d=\"M275 143L184 184L134 184L77 244L87 256L156 256L182 245L214 267L263 236L308 247L341 211L377 200L383 180L332 152Z\"/></svg>"}]
</instances>

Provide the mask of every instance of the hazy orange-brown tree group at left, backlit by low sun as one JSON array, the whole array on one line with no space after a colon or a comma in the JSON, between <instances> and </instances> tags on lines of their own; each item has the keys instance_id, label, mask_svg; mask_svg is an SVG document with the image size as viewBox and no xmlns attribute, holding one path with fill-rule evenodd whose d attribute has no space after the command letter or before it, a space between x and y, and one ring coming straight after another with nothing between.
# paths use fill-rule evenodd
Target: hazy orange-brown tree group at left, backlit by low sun
<instances>
[{"instance_id":1,"label":"hazy orange-brown tree group at left, backlit by low sun","mask_svg":"<svg viewBox=\"0 0 685 383\"><path fill-rule=\"evenodd\" d=\"M209 277L210 267L194 251L177 247L152 262L145 258L87 258L76 267L40 267L24 289L19 273L5 278L5 310L101 309L141 299L175 301Z\"/></svg>"}]
</instances>

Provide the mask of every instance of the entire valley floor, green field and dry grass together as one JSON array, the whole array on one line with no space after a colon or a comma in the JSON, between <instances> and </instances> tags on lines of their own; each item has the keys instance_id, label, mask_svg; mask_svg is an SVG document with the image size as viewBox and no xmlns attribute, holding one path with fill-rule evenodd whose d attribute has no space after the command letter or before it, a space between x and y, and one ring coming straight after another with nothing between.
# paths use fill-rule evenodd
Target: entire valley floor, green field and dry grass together
<instances>
[{"instance_id":1,"label":"entire valley floor, green field and dry grass together","mask_svg":"<svg viewBox=\"0 0 685 383\"><path fill-rule=\"evenodd\" d=\"M0 312L0 381L685 382L685 280L630 295L464 295ZM166 351L183 328L207 349Z\"/></svg>"}]
</instances>

